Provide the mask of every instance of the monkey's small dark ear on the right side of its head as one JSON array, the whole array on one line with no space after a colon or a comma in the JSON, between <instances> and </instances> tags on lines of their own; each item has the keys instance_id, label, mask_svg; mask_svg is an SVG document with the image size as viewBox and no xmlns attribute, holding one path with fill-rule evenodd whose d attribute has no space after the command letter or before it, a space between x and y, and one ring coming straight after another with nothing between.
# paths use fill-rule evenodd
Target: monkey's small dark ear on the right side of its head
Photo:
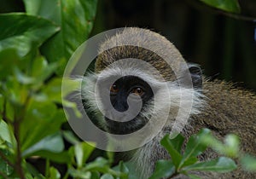
<instances>
[{"instance_id":1,"label":"monkey's small dark ear on the right side of its head","mask_svg":"<svg viewBox=\"0 0 256 179\"><path fill-rule=\"evenodd\" d=\"M201 67L197 64L188 64L189 66L189 72L191 75L192 79L192 84L193 87L196 89L201 89L202 88L202 72L201 72Z\"/></svg>"}]
</instances>

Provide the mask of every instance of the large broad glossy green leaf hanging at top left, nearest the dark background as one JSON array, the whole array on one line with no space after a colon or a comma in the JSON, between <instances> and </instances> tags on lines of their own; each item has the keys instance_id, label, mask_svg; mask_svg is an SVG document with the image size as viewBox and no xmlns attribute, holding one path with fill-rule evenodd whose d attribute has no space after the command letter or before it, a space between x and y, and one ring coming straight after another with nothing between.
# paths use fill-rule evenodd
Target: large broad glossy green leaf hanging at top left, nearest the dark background
<instances>
[{"instance_id":1,"label":"large broad glossy green leaf hanging at top left, nearest the dark background","mask_svg":"<svg viewBox=\"0 0 256 179\"><path fill-rule=\"evenodd\" d=\"M28 14L44 17L61 26L61 32L42 47L43 55L49 61L60 61L63 58L67 61L74 50L89 37L97 0L24 0L24 3Z\"/></svg>"}]
</instances>

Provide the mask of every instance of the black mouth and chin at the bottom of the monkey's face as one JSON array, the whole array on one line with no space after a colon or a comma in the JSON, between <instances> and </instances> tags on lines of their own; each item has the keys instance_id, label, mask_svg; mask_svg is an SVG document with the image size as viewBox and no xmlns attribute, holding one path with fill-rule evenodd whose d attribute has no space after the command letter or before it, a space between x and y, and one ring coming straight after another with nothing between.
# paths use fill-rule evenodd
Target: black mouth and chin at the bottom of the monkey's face
<instances>
[{"instance_id":1,"label":"black mouth and chin at the bottom of the monkey's face","mask_svg":"<svg viewBox=\"0 0 256 179\"><path fill-rule=\"evenodd\" d=\"M113 135L127 135L137 130L141 130L145 124L148 123L148 120L133 118L127 122L118 122L115 120L111 120L109 118L105 118L107 124L107 131Z\"/></svg>"}]
</instances>

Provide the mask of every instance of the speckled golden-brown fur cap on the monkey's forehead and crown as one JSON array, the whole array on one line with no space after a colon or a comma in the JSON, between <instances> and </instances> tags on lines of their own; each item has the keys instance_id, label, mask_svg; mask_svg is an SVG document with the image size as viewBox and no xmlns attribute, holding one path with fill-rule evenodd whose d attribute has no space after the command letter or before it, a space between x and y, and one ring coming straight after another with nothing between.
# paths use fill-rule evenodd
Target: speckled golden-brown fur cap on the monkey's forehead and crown
<instances>
[{"instance_id":1,"label":"speckled golden-brown fur cap on the monkey's forehead and crown","mask_svg":"<svg viewBox=\"0 0 256 179\"><path fill-rule=\"evenodd\" d=\"M126 58L148 62L168 81L175 80L173 71L178 71L183 61L174 45L160 34L130 27L102 43L96 59L96 72Z\"/></svg>"}]
</instances>

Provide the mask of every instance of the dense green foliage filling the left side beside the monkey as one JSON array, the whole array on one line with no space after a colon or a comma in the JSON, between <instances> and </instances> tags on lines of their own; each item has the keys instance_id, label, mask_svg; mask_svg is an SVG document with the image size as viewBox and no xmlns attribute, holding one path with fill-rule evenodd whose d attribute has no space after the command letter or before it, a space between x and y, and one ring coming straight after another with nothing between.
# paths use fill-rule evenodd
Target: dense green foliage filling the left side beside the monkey
<instances>
[{"instance_id":1,"label":"dense green foliage filling the left side beside the monkey","mask_svg":"<svg viewBox=\"0 0 256 179\"><path fill-rule=\"evenodd\" d=\"M100 173L125 178L122 163L118 170L102 158L85 165L93 144L61 130L67 121L61 105L78 112L73 103L61 101L61 72L90 34L96 0L24 3L25 13L0 14L0 176L63 178L50 165L56 162L67 165L64 178L100 178ZM78 85L69 79L67 83L69 91ZM63 138L73 139L67 150ZM27 162L32 156L46 159L45 173Z\"/></svg>"}]
</instances>

